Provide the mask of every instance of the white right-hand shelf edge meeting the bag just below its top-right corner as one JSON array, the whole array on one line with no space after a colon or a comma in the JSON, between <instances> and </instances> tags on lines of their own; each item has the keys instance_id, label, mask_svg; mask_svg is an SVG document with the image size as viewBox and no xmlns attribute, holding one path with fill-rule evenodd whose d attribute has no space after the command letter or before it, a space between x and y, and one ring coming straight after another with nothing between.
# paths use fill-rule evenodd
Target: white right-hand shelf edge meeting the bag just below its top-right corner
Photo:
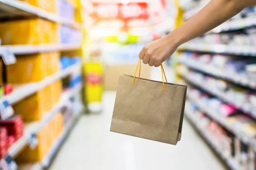
<instances>
[{"instance_id":1,"label":"white right-hand shelf edge meeting the bag just below its top-right corner","mask_svg":"<svg viewBox=\"0 0 256 170\"><path fill-rule=\"evenodd\" d=\"M246 134L245 131L238 129L238 127L230 125L227 122L227 118L224 116L221 116L220 113L217 113L216 111L212 109L208 109L205 105L203 105L201 102L198 102L197 99L193 99L191 95L187 95L190 101L194 102L198 107L199 110L206 113L210 118L221 124L223 127L225 127L227 130L232 132L234 135L236 135L237 138L241 139L245 144L250 144L254 148L256 148L256 139L253 136L250 136Z\"/></svg>"}]
</instances>

